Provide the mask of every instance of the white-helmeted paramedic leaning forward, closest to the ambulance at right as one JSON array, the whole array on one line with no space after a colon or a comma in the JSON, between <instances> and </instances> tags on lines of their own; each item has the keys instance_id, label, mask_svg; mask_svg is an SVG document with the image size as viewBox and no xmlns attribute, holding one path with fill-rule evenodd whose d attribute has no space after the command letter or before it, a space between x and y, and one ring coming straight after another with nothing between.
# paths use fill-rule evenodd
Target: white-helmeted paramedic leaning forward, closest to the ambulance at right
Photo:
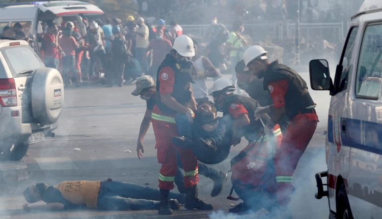
<instances>
[{"instance_id":1,"label":"white-helmeted paramedic leaning forward, closest to the ambulance at right","mask_svg":"<svg viewBox=\"0 0 382 219\"><path fill-rule=\"evenodd\" d=\"M307 83L289 67L278 60L269 63L267 52L260 46L251 46L244 53L244 70L250 69L259 79L264 78L263 88L268 90L273 105L256 109L256 117L274 111L265 127L265 133L287 115L290 124L285 131L280 149L276 152L275 169L278 202L281 212L290 212L287 206L292 193L292 176L299 159L307 148L317 127L318 117ZM287 218L290 215L286 215Z\"/></svg>"}]
</instances>

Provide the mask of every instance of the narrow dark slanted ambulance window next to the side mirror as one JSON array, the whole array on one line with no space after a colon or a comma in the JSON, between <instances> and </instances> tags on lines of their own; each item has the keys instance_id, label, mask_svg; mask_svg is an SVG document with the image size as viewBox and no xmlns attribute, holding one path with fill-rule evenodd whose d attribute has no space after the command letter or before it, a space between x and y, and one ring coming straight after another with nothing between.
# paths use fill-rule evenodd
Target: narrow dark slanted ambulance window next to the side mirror
<instances>
[{"instance_id":1,"label":"narrow dark slanted ambulance window next to the side mirror","mask_svg":"<svg viewBox=\"0 0 382 219\"><path fill-rule=\"evenodd\" d=\"M335 87L337 87L338 91L341 92L346 90L347 88L347 78L348 72L351 72L353 69L353 64L351 63L351 57L354 51L354 43L356 42L356 37L358 33L358 26L352 27L349 31L347 41L345 42L343 54L342 54L342 72L337 72L337 74L341 74L339 77L336 76Z\"/></svg>"}]
</instances>

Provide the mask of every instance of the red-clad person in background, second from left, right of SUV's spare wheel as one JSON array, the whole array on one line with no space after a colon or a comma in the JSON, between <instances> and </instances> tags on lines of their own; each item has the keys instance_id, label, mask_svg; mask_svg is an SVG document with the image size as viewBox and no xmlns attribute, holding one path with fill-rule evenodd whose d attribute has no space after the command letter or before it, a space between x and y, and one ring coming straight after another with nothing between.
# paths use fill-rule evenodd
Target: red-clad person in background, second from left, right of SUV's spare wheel
<instances>
[{"instance_id":1,"label":"red-clad person in background, second from left, right of SUV's spare wheel","mask_svg":"<svg viewBox=\"0 0 382 219\"><path fill-rule=\"evenodd\" d=\"M71 36L70 28L65 27L63 29L63 35L59 39L59 44L65 53L65 56L62 57L62 74L64 76L64 84L66 86L72 85L72 80L69 73L75 72L75 49L78 48L78 44L74 37Z\"/></svg>"}]
</instances>

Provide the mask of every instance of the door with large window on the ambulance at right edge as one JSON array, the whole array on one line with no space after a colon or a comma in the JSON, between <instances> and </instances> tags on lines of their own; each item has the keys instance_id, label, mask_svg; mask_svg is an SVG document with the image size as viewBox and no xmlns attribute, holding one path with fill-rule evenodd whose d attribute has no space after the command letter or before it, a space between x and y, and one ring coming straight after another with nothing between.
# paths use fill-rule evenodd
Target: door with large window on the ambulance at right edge
<instances>
[{"instance_id":1,"label":"door with large window on the ambulance at right edge","mask_svg":"<svg viewBox=\"0 0 382 219\"><path fill-rule=\"evenodd\" d=\"M382 214L382 24L364 30L349 98L348 199L354 218Z\"/></svg>"}]
</instances>

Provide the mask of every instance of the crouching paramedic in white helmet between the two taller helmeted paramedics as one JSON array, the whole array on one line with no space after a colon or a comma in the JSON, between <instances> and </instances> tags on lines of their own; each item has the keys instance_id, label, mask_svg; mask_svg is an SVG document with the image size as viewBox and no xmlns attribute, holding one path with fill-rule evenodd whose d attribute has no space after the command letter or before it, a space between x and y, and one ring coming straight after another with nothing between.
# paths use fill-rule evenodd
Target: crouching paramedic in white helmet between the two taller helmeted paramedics
<instances>
[{"instance_id":1,"label":"crouching paramedic in white helmet between the two taller helmeted paramedics","mask_svg":"<svg viewBox=\"0 0 382 219\"><path fill-rule=\"evenodd\" d=\"M272 168L274 148L281 144L283 138L280 126L275 124L270 134L264 133L263 123L270 120L268 114L261 115L261 121L255 119L255 111L261 108L260 104L252 98L234 95L235 86L228 78L217 79L212 86L214 108L223 112L223 115L231 115L233 118L231 130L233 131L232 143L240 143L244 136L249 144L237 157L231 161L232 185L236 194L243 203L231 208L233 213L259 210L265 208L271 210L277 202L275 171ZM275 136L274 141L269 141ZM251 155L250 155L251 154ZM236 163L243 162L239 166ZM242 166L245 164L245 166ZM247 166L248 165L248 166ZM252 165L256 165L253 170ZM232 193L231 193L232 194ZM231 199L231 194L228 199Z\"/></svg>"}]
</instances>

